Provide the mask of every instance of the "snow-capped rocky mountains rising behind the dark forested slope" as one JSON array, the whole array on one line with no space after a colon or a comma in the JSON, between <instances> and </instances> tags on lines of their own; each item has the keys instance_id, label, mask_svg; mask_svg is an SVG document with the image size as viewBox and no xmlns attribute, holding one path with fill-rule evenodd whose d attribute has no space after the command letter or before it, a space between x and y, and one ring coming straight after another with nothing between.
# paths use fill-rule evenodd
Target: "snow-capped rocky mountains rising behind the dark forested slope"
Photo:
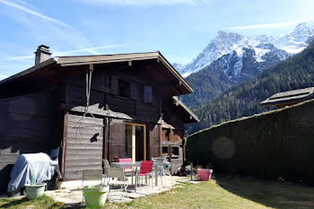
<instances>
[{"instance_id":1,"label":"snow-capped rocky mountains rising behind the dark forested slope","mask_svg":"<svg viewBox=\"0 0 314 209\"><path fill-rule=\"evenodd\" d=\"M285 59L288 56L301 52L314 37L314 22L302 22L291 32L277 37L255 36L246 37L234 32L220 30L217 36L210 41L207 47L187 65L174 64L175 68L184 77L197 72L218 58L220 65L230 79L237 83L245 80L242 72L243 56L251 54L251 63L260 66L258 72L270 65ZM223 60L223 63L222 63ZM270 61L270 63L267 63ZM254 74L254 73L253 73Z\"/></svg>"}]
</instances>

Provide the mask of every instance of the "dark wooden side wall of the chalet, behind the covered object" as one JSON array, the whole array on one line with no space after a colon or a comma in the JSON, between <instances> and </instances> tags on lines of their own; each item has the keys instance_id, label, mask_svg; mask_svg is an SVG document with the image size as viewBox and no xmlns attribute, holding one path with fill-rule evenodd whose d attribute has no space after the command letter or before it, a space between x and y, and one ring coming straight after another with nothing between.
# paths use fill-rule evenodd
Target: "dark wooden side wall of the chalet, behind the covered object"
<instances>
[{"instance_id":1,"label":"dark wooden side wall of the chalet, behind the covered object","mask_svg":"<svg viewBox=\"0 0 314 209\"><path fill-rule=\"evenodd\" d=\"M55 91L0 100L0 189L21 153L50 152L56 139Z\"/></svg>"}]
</instances>

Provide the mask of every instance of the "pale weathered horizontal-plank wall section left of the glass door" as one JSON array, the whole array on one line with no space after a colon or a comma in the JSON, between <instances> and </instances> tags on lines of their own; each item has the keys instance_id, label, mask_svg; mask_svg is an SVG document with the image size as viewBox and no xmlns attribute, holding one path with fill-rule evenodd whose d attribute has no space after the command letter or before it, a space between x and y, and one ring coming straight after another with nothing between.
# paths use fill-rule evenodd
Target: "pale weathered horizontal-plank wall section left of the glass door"
<instances>
[{"instance_id":1,"label":"pale weathered horizontal-plank wall section left of the glass door","mask_svg":"<svg viewBox=\"0 0 314 209\"><path fill-rule=\"evenodd\" d=\"M82 170L101 169L103 156L103 128L92 126L103 124L102 118L86 117L78 131L74 128L82 116L68 115L66 131L65 180L81 179ZM80 133L78 133L80 132ZM80 138L81 135L81 138ZM99 136L96 138L96 135ZM97 162L97 163L96 163Z\"/></svg>"}]
</instances>

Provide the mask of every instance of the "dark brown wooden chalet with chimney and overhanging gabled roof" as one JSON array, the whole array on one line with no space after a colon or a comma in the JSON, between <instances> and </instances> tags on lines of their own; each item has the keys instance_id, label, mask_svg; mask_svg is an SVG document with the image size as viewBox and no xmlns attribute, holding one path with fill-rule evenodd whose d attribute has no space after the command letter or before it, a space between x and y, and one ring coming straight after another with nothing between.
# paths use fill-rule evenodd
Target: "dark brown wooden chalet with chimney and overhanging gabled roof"
<instances>
[{"instance_id":1,"label":"dark brown wooden chalet with chimney and overhanging gabled roof","mask_svg":"<svg viewBox=\"0 0 314 209\"><path fill-rule=\"evenodd\" d=\"M50 55L39 46L36 65L0 82L2 189L19 154L58 146L65 181L102 169L101 159L164 154L172 173L178 170L185 158L184 124L198 119L177 97L193 89L159 51Z\"/></svg>"}]
</instances>

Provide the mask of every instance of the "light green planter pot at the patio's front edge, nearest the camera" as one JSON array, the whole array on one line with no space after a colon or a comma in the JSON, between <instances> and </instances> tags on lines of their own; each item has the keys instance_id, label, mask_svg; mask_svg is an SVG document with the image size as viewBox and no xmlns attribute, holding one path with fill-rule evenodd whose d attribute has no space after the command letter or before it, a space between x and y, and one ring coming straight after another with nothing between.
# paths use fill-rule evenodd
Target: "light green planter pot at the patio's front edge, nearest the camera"
<instances>
[{"instance_id":1,"label":"light green planter pot at the patio's front edge, nearest the camera","mask_svg":"<svg viewBox=\"0 0 314 209\"><path fill-rule=\"evenodd\" d=\"M106 203L109 186L87 186L83 187L86 207L103 207Z\"/></svg>"}]
</instances>

